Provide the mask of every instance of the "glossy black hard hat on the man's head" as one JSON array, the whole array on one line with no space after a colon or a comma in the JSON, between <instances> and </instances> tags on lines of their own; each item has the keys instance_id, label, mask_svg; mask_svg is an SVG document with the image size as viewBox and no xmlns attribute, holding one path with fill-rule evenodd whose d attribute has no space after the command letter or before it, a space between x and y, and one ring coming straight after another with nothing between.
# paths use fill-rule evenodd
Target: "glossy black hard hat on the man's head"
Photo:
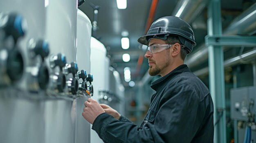
<instances>
[{"instance_id":1,"label":"glossy black hard hat on the man's head","mask_svg":"<svg viewBox=\"0 0 256 143\"><path fill-rule=\"evenodd\" d=\"M162 36L166 40L168 35L177 35L189 53L196 46L194 32L191 26L176 16L165 16L153 22L147 35L139 37L138 42L148 45L150 38Z\"/></svg>"}]
</instances>

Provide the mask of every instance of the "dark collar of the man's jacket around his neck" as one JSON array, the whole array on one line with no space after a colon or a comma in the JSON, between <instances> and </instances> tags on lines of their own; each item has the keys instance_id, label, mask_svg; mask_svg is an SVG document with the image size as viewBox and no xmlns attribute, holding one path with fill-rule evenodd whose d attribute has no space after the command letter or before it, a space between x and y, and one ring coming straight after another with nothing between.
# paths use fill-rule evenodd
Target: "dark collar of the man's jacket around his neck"
<instances>
[{"instance_id":1,"label":"dark collar of the man's jacket around his neck","mask_svg":"<svg viewBox=\"0 0 256 143\"><path fill-rule=\"evenodd\" d=\"M157 90L157 88L159 88L160 86L162 86L166 81L168 81L168 79L171 79L173 77L173 75L176 75L177 73L183 73L186 71L191 71L189 70L188 66L186 64L182 64L180 66L178 66L177 68L175 68L174 70L172 70L170 73L168 73L167 75L153 81L151 83L151 88L153 90Z\"/></svg>"}]
</instances>

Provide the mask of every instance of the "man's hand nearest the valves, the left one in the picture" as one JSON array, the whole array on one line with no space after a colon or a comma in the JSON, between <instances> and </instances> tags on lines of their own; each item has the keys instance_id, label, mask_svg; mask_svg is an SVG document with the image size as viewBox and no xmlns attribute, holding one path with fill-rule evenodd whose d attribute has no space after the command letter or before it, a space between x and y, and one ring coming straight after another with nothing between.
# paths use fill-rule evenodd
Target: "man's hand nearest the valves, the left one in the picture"
<instances>
[{"instance_id":1,"label":"man's hand nearest the valves, the left one in the picture","mask_svg":"<svg viewBox=\"0 0 256 143\"><path fill-rule=\"evenodd\" d=\"M99 114L105 112L99 103L94 99L88 98L84 104L85 108L83 108L82 116L91 124L94 122L96 117L99 116Z\"/></svg>"}]
</instances>

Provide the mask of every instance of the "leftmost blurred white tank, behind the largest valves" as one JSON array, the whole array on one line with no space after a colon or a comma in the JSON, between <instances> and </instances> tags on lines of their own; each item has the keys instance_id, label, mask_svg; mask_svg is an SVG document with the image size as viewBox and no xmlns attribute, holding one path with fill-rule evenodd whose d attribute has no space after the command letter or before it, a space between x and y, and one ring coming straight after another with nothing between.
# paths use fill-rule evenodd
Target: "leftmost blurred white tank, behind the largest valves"
<instances>
[{"instance_id":1,"label":"leftmost blurred white tank, behind the largest valves","mask_svg":"<svg viewBox=\"0 0 256 143\"><path fill-rule=\"evenodd\" d=\"M27 43L29 39L45 38L45 0L1 0L0 12L16 12L27 20L27 33L18 40L24 67L28 65ZM15 69L13 69L15 70ZM0 89L0 143L45 143L44 102L22 98L26 76L15 87Z\"/></svg>"}]
</instances>

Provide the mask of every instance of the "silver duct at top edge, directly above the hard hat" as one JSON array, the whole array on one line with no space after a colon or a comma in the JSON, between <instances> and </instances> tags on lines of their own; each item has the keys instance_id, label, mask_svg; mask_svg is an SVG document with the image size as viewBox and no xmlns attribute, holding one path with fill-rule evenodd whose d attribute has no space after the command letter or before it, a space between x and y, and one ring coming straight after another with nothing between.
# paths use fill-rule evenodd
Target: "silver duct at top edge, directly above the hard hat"
<instances>
[{"instance_id":1,"label":"silver duct at top edge, directly above the hard hat","mask_svg":"<svg viewBox=\"0 0 256 143\"><path fill-rule=\"evenodd\" d=\"M191 23L202 12L209 0L180 0L172 15Z\"/></svg>"}]
</instances>

